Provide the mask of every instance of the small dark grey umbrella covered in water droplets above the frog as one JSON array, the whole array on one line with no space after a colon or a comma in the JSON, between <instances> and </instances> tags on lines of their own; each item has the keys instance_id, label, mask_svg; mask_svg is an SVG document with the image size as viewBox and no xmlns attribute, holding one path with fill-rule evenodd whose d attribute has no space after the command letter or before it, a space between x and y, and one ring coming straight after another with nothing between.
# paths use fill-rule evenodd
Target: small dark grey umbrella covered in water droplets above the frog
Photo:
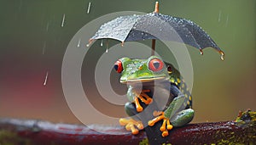
<instances>
[{"instance_id":1,"label":"small dark grey umbrella covered in water droplets above the frog","mask_svg":"<svg viewBox=\"0 0 256 145\"><path fill-rule=\"evenodd\" d=\"M160 39L183 42L198 48L201 54L203 48L213 47L224 60L224 52L200 26L191 20L159 14L158 8L159 4L156 2L153 13L120 16L108 21L96 31L95 36L90 38L89 44L94 40L106 38L118 40L122 45L124 42L152 39L152 54L154 54L155 39Z\"/></svg>"}]
</instances>

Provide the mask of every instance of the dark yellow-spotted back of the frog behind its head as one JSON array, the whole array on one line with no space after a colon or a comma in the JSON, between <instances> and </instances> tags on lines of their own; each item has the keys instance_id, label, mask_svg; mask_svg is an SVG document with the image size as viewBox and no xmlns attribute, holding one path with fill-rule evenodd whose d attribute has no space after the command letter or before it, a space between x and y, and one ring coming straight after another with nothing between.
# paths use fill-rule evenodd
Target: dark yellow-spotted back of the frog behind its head
<instances>
[{"instance_id":1,"label":"dark yellow-spotted back of the frog behind its head","mask_svg":"<svg viewBox=\"0 0 256 145\"><path fill-rule=\"evenodd\" d=\"M184 105L186 106L186 109L192 109L192 96L189 92L189 87L184 82L182 76L180 75L179 71L173 67L172 64L166 63L166 68L168 70L168 74L170 75L170 83L176 85L181 92L183 92L185 98L188 100Z\"/></svg>"}]
</instances>

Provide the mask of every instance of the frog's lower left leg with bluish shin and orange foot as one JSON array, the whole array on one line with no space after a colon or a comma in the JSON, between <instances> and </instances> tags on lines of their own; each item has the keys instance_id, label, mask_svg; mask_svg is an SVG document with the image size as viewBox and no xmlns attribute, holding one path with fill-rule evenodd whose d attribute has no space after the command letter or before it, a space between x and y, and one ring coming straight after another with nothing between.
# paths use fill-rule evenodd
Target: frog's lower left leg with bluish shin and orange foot
<instances>
[{"instance_id":1,"label":"frog's lower left leg with bluish shin and orange foot","mask_svg":"<svg viewBox=\"0 0 256 145\"><path fill-rule=\"evenodd\" d=\"M125 103L125 111L126 114L132 117L119 119L119 124L124 125L127 131L131 131L132 134L136 135L144 127L143 122L138 120L136 116L138 113L135 103Z\"/></svg>"}]
</instances>

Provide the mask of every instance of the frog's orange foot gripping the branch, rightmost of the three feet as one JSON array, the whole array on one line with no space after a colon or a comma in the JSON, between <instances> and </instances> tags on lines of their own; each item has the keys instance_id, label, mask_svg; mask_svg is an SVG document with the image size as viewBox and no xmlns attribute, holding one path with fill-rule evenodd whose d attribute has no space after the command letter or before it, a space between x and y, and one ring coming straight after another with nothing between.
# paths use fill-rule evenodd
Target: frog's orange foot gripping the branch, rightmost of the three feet
<instances>
[{"instance_id":1,"label":"frog's orange foot gripping the branch, rightmost of the three feet","mask_svg":"<svg viewBox=\"0 0 256 145\"><path fill-rule=\"evenodd\" d=\"M160 111L160 112L154 111L153 115L157 116L157 117L155 117L153 120L149 120L148 125L153 126L156 122L163 120L163 123L160 126L160 131L162 131L162 137L168 136L168 134L169 134L168 130L172 130L172 128L173 128L173 126L170 123L169 118L167 118L165 116L165 113L162 111Z\"/></svg>"}]
</instances>

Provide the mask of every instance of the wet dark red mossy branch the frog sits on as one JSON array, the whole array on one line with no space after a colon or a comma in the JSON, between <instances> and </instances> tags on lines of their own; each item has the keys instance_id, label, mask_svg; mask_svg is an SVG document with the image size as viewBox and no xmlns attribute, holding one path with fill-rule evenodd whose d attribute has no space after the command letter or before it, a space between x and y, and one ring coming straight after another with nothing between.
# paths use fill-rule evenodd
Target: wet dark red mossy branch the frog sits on
<instances>
[{"instance_id":1,"label":"wet dark red mossy branch the frog sits on","mask_svg":"<svg viewBox=\"0 0 256 145\"><path fill-rule=\"evenodd\" d=\"M239 114L236 121L189 124L175 128L170 131L170 136L163 144L253 144L255 142L256 112L247 111ZM0 144L125 145L148 144L148 139L144 131L134 136L130 132L127 133L123 126L85 126L54 124L42 120L0 119Z\"/></svg>"}]
</instances>

